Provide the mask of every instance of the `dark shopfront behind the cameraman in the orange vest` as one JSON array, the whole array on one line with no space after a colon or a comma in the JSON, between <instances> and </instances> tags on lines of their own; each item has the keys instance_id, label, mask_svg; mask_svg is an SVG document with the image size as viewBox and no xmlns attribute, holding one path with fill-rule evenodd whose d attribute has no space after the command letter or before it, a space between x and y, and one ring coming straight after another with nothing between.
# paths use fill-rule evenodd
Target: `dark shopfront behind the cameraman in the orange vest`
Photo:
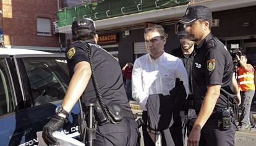
<instances>
[{"instance_id":1,"label":"dark shopfront behind the cameraman in the orange vest","mask_svg":"<svg viewBox=\"0 0 256 146\"><path fill-rule=\"evenodd\" d=\"M250 63L256 65L256 7L214 12L220 26L212 28L215 34L230 49L231 44L238 44L241 52L247 55Z\"/></svg>"}]
</instances>

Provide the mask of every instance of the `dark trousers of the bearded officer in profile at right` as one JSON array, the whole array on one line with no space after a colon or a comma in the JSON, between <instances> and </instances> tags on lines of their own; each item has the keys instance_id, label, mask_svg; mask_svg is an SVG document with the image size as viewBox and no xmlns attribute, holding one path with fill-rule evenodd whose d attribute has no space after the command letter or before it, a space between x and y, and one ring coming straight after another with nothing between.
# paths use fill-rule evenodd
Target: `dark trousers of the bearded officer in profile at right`
<instances>
[{"instance_id":1,"label":"dark trousers of the bearded officer in profile at right","mask_svg":"<svg viewBox=\"0 0 256 146\"><path fill-rule=\"evenodd\" d=\"M234 121L234 120L233 120ZM199 145L201 146L234 146L235 124L223 131L218 128L218 120L208 120L201 130Z\"/></svg>"}]
</instances>

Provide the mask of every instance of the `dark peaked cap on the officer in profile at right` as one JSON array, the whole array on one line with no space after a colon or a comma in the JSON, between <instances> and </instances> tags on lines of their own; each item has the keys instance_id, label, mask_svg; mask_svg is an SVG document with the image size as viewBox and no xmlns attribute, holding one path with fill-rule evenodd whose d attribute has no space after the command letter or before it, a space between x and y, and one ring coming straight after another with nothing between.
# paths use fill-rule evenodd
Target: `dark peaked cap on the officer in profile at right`
<instances>
[{"instance_id":1,"label":"dark peaked cap on the officer in profile at right","mask_svg":"<svg viewBox=\"0 0 256 146\"><path fill-rule=\"evenodd\" d=\"M201 5L188 7L184 17L179 20L179 22L185 25L190 25L194 23L198 18L202 18L211 22L213 18L211 16L211 10L209 7Z\"/></svg>"}]
</instances>

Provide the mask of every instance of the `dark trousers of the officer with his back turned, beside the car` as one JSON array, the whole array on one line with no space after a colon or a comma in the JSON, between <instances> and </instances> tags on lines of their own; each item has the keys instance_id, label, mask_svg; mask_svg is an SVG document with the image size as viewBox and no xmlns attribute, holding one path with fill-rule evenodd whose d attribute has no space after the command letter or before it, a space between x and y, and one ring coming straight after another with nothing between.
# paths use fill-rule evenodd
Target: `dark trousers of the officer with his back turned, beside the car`
<instances>
[{"instance_id":1,"label":"dark trousers of the officer with his back turned, beside the car","mask_svg":"<svg viewBox=\"0 0 256 146\"><path fill-rule=\"evenodd\" d=\"M123 118L119 124L104 124L96 131L97 146L135 146L138 139L138 125L135 120Z\"/></svg>"}]
</instances>

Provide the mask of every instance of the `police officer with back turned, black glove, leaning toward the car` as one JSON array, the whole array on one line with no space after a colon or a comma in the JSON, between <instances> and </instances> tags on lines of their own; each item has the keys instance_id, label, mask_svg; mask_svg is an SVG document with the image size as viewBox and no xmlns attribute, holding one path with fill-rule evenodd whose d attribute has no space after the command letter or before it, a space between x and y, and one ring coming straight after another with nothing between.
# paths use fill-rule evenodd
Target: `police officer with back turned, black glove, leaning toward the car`
<instances>
[{"instance_id":1,"label":"police officer with back turned, black glove, leaning toward the car","mask_svg":"<svg viewBox=\"0 0 256 146\"><path fill-rule=\"evenodd\" d=\"M72 41L74 42L66 51L67 65L72 78L61 107L56 108L56 116L43 128L43 139L47 144L56 143L53 132L58 131L66 123L70 110L81 96L83 108L85 103L95 103L97 100L95 87L90 79L92 68L87 49L81 41L90 46L96 81L103 101L107 107L111 103L116 103L122 108L121 123L108 122L97 126L94 145L134 146L137 143L137 123L129 107L121 68L113 56L96 44L97 39L93 20L85 18L72 23Z\"/></svg>"}]
</instances>

